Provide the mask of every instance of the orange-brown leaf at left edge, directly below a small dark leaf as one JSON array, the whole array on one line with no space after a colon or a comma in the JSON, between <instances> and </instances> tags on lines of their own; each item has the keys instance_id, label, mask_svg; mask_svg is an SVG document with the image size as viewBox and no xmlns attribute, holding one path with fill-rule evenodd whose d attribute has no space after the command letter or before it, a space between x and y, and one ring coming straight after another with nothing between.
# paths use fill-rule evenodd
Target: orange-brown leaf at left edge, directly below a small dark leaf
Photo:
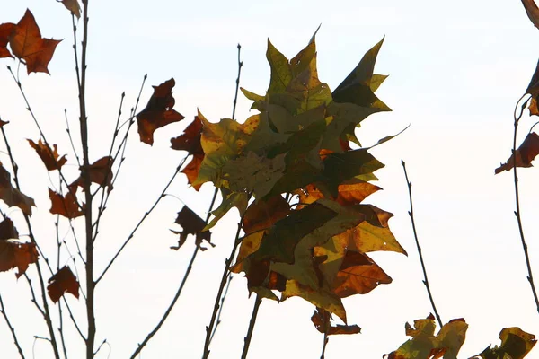
<instances>
[{"instance_id":1,"label":"orange-brown leaf at left edge, directly below a small dark leaf","mask_svg":"<svg viewBox=\"0 0 539 359\"><path fill-rule=\"evenodd\" d=\"M18 268L17 278L22 276L31 263L38 261L38 250L34 243L22 243L15 240L0 241L0 272Z\"/></svg>"}]
</instances>

